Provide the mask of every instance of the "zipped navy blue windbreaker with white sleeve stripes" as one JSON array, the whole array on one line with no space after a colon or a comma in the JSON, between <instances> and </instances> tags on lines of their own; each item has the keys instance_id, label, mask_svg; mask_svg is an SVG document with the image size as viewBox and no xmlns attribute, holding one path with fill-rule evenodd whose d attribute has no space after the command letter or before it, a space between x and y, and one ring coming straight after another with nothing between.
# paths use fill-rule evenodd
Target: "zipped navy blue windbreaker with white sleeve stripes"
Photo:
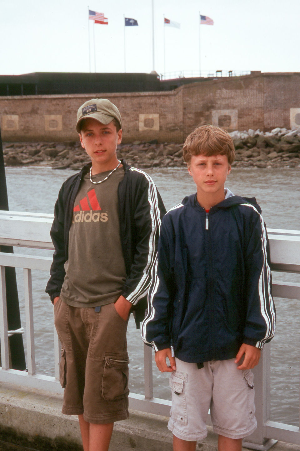
<instances>
[{"instance_id":1,"label":"zipped navy blue windbreaker with white sleeve stripes","mask_svg":"<svg viewBox=\"0 0 300 451\"><path fill-rule=\"evenodd\" d=\"M143 341L185 362L225 360L275 331L269 244L255 198L233 196L206 213L197 195L163 218Z\"/></svg>"}]
</instances>

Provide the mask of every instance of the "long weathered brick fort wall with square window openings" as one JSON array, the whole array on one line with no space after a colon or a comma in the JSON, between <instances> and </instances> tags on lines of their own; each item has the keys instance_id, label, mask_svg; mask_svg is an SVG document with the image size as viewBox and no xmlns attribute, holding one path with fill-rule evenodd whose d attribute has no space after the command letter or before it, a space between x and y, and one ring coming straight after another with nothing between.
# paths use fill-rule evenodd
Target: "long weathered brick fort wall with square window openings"
<instances>
[{"instance_id":1,"label":"long weathered brick fort wall with square window openings","mask_svg":"<svg viewBox=\"0 0 300 451\"><path fill-rule=\"evenodd\" d=\"M300 126L300 74L207 79L170 92L0 97L3 141L72 141L78 107L92 97L118 106L123 142L182 143L197 125L228 131Z\"/></svg>"}]
</instances>

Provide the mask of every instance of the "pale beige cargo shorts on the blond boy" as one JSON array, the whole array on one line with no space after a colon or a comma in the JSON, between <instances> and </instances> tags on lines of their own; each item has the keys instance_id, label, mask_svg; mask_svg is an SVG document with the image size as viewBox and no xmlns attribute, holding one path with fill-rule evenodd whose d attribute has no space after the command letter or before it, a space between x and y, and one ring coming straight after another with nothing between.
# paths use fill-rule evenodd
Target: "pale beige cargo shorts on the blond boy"
<instances>
[{"instance_id":1,"label":"pale beige cargo shorts on the blond boy","mask_svg":"<svg viewBox=\"0 0 300 451\"><path fill-rule=\"evenodd\" d=\"M214 432L219 435L238 439L255 431L253 373L238 370L234 360L212 360L198 369L197 364L175 359L168 428L176 437L203 440L209 409Z\"/></svg>"}]
</instances>

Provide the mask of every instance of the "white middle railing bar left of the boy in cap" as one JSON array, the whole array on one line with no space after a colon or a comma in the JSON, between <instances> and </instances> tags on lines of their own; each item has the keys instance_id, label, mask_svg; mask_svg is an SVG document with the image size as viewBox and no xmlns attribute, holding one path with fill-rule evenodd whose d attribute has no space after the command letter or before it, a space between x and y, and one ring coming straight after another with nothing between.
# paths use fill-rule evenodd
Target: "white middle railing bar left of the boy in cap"
<instances>
[{"instance_id":1,"label":"white middle railing bar left of the boy in cap","mask_svg":"<svg viewBox=\"0 0 300 451\"><path fill-rule=\"evenodd\" d=\"M51 263L52 257L0 252L0 266L49 271Z\"/></svg>"}]
</instances>

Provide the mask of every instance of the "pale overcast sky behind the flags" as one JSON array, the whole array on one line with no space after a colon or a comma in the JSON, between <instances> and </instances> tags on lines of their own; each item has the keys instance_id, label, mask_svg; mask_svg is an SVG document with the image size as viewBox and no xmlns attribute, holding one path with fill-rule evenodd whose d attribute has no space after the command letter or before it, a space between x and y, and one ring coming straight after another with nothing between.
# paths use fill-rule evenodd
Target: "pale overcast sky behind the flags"
<instances>
[{"instance_id":1,"label":"pale overcast sky behind the flags","mask_svg":"<svg viewBox=\"0 0 300 451\"><path fill-rule=\"evenodd\" d=\"M199 13L214 25L199 25ZM139 25L125 28L124 16ZM0 75L300 72L299 18L299 0L0 0Z\"/></svg>"}]
</instances>

